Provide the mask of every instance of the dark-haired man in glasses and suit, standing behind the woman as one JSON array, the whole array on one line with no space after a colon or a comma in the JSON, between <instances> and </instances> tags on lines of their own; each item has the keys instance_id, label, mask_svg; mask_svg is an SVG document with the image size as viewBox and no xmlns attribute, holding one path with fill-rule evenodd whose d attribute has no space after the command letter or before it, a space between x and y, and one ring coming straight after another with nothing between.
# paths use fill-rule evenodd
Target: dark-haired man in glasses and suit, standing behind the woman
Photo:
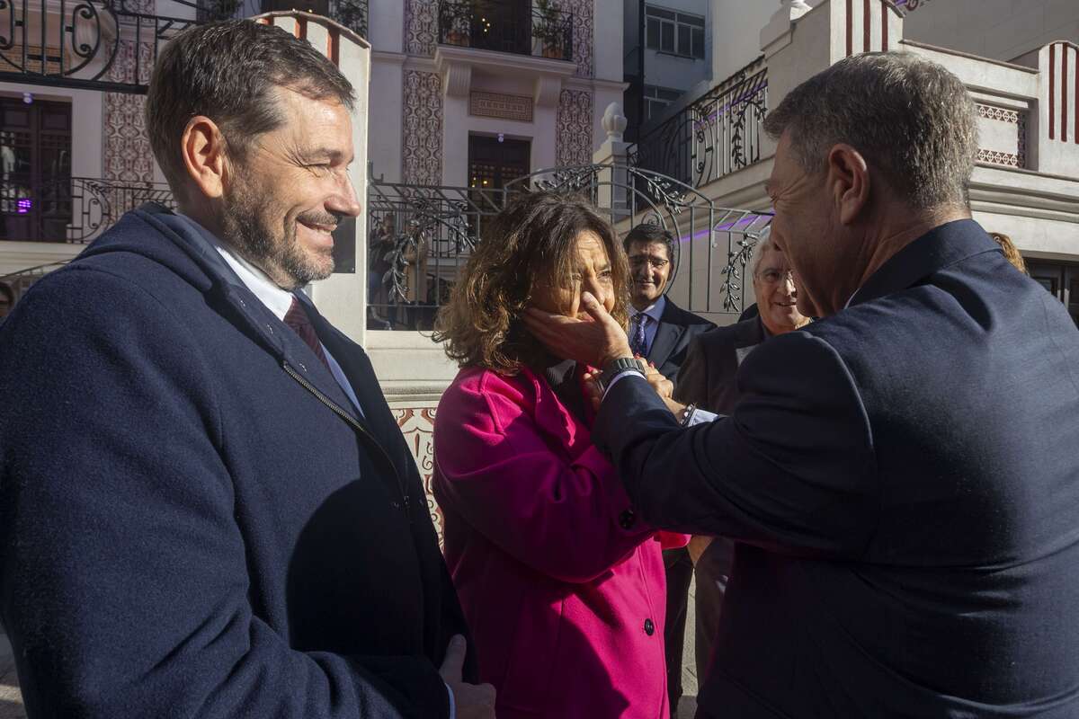
<instances>
[{"instance_id":1,"label":"dark-haired man in glasses and suit, standing behind the woman","mask_svg":"<svg viewBox=\"0 0 1079 719\"><path fill-rule=\"evenodd\" d=\"M674 382L689 343L715 326L682 309L665 294L674 259L674 237L670 232L656 224L639 224L623 238L623 245L633 281L629 293L630 348ZM664 625L667 695L673 714L682 696L686 603L693 579L688 549L664 550L664 565L667 569L667 623Z\"/></svg>"}]
</instances>

